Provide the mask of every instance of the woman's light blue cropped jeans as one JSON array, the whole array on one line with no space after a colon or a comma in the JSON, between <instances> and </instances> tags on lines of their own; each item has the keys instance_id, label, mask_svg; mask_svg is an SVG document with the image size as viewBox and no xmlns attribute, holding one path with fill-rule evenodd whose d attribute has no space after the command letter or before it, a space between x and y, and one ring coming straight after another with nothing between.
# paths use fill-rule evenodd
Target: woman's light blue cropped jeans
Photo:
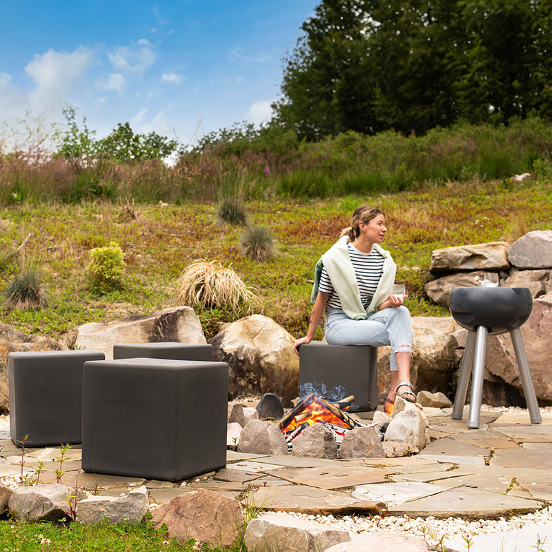
<instances>
[{"instance_id":1,"label":"woman's light blue cropped jeans","mask_svg":"<svg viewBox=\"0 0 552 552\"><path fill-rule=\"evenodd\" d=\"M391 345L389 364L397 370L395 353L411 353L412 325L408 308L384 308L366 320L353 320L340 308L326 307L326 341L331 345Z\"/></svg>"}]
</instances>

